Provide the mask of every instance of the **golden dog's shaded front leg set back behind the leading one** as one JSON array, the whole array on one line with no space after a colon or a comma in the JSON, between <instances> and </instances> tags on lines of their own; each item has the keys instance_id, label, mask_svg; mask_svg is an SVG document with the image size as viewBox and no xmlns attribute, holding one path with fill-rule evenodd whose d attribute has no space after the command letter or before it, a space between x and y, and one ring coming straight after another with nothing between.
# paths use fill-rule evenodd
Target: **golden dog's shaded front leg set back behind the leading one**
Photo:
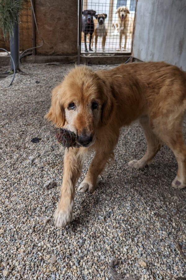
<instances>
[{"instance_id":1,"label":"golden dog's shaded front leg set back behind the leading one","mask_svg":"<svg viewBox=\"0 0 186 280\"><path fill-rule=\"evenodd\" d=\"M95 154L84 180L78 187L79 192L86 192L88 190L92 193L95 191L98 175L103 171L109 158L112 158L113 156L113 150L105 151L103 153L97 152Z\"/></svg>"}]
</instances>

